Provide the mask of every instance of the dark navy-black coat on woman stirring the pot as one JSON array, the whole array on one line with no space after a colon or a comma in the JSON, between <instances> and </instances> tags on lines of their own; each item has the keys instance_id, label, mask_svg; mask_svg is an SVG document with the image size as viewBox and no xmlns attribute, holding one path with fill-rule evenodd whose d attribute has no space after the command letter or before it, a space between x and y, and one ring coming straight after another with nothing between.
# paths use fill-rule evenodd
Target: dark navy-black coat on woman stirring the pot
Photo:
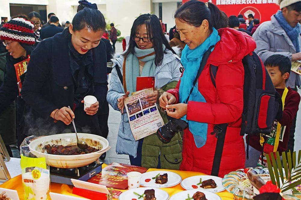
<instances>
[{"instance_id":1,"label":"dark navy-black coat on woman stirring the pot","mask_svg":"<svg viewBox=\"0 0 301 200\"><path fill-rule=\"evenodd\" d=\"M50 135L56 133L74 132L69 126L58 121L53 123L50 114L55 109L73 107L74 84L70 72L68 38L69 32L43 40L31 54L27 74L21 91L23 100L30 106L26 116L25 134ZM69 33L68 33L69 34ZM93 55L93 95L103 105L107 96L107 55L103 41L92 50ZM93 90L91 90L93 91ZM100 110L101 108L99 108ZM97 115L87 115L83 104L75 110L75 123L78 132L101 135Z\"/></svg>"}]
</instances>

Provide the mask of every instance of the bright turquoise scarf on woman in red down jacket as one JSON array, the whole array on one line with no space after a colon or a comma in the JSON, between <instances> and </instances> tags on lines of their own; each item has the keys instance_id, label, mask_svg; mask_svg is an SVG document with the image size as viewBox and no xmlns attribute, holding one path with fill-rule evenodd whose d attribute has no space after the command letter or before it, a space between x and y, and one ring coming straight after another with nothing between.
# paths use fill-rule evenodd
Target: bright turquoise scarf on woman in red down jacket
<instances>
[{"instance_id":1,"label":"bright turquoise scarf on woman in red down jacket","mask_svg":"<svg viewBox=\"0 0 301 200\"><path fill-rule=\"evenodd\" d=\"M193 81L197 75L197 71L200 68L200 63L202 61L204 53L209 49L210 46L215 45L220 39L221 37L219 37L217 30L213 28L213 32L200 46L191 50L188 48L188 45L186 45L183 49L181 62L185 71L181 78L179 88L180 103L186 101L192 87L193 91L189 97L189 101L206 102L205 98L198 90L198 82L193 85ZM197 148L205 145L207 140L208 124L187 120L186 115L182 117L182 120L188 122L189 130L194 136L194 142Z\"/></svg>"}]
</instances>

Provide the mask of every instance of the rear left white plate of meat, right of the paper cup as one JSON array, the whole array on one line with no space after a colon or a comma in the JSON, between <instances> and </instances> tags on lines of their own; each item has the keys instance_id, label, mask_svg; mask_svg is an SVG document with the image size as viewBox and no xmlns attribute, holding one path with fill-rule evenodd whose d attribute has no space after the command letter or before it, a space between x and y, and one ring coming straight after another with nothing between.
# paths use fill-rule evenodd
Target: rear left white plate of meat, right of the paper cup
<instances>
[{"instance_id":1,"label":"rear left white plate of meat, right of the paper cup","mask_svg":"<svg viewBox=\"0 0 301 200\"><path fill-rule=\"evenodd\" d=\"M165 184L157 184L156 179L152 179L157 176L157 174L163 175L167 173L167 183ZM150 182L145 182L145 179L151 179ZM144 187L172 187L181 183L182 177L174 172L169 171L153 171L153 172L145 172L141 177L141 186Z\"/></svg>"}]
</instances>

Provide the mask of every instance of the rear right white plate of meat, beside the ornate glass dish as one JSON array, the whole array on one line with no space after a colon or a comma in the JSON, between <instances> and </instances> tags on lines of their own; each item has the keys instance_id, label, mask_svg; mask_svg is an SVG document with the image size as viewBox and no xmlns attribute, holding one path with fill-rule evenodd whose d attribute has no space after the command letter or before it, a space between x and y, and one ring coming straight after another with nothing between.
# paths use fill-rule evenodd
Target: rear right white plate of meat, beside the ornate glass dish
<instances>
[{"instance_id":1,"label":"rear right white plate of meat, beside the ornate glass dish","mask_svg":"<svg viewBox=\"0 0 301 200\"><path fill-rule=\"evenodd\" d=\"M202 178L202 181L206 181L208 179L213 179L214 182L216 183L217 187L204 189L204 188L200 187L200 185L198 185L198 188L194 189L192 187L192 185L197 185L200 182L200 178ZM181 182L181 186L185 190L206 190L206 191L213 192L213 193L218 193L218 192L222 192L223 190L225 190L225 188L223 187L223 184L222 184L222 178L217 177L217 176L209 176L209 175L199 175L199 176L191 176L191 177L185 178Z\"/></svg>"}]
</instances>

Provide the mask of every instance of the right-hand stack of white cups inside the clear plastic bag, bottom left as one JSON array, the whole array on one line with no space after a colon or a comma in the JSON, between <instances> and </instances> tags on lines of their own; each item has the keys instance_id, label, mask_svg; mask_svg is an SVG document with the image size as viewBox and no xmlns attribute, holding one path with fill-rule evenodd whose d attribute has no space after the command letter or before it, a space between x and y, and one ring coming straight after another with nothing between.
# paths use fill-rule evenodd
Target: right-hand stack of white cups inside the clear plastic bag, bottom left
<instances>
[{"instance_id":1,"label":"right-hand stack of white cups inside the clear plastic bag, bottom left","mask_svg":"<svg viewBox=\"0 0 301 200\"><path fill-rule=\"evenodd\" d=\"M36 200L47 199L49 184L49 174L46 173L41 173L41 177L34 180L32 189Z\"/></svg>"}]
</instances>

